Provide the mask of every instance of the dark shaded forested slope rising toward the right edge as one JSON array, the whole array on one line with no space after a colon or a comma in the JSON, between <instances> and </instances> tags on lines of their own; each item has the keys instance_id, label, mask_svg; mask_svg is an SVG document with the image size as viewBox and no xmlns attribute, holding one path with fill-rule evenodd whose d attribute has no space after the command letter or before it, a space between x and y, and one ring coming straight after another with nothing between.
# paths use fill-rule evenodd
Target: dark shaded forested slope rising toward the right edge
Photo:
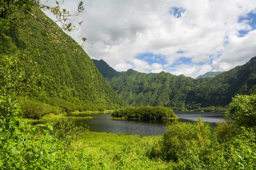
<instances>
[{"instance_id":1,"label":"dark shaded forested slope rising toward the right edge","mask_svg":"<svg viewBox=\"0 0 256 170\"><path fill-rule=\"evenodd\" d=\"M203 107L224 106L236 94L256 94L256 57L213 78L197 79L187 103L200 103Z\"/></svg>"}]
</instances>

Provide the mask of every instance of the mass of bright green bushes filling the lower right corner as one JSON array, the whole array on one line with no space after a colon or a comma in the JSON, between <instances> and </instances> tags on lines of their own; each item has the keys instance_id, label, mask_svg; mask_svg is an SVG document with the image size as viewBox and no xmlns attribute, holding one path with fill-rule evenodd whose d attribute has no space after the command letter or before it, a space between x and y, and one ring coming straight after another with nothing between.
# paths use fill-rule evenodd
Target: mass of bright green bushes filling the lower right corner
<instances>
[{"instance_id":1,"label":"mass of bright green bushes filling the lower right corner","mask_svg":"<svg viewBox=\"0 0 256 170\"><path fill-rule=\"evenodd\" d=\"M220 127L221 126L221 127ZM234 127L231 129L230 127ZM169 161L174 170L256 168L255 128L177 122L148 147L150 158Z\"/></svg>"}]
</instances>

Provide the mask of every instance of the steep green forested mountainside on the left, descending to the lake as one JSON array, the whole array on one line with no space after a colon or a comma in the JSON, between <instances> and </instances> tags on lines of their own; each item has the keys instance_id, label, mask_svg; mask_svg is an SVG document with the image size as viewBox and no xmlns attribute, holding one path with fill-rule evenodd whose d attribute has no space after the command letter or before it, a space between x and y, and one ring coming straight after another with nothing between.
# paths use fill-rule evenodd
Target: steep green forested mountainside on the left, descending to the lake
<instances>
[{"instance_id":1,"label":"steep green forested mountainside on the left, descending to the lake","mask_svg":"<svg viewBox=\"0 0 256 170\"><path fill-rule=\"evenodd\" d=\"M50 20L40 10L36 15ZM10 27L5 32L0 39L0 53L27 54L38 63L38 72L47 77L43 90L36 95L41 102L70 110L124 105L84 50L64 32L62 37L68 44L53 41L38 22L28 19L22 28Z\"/></svg>"}]
</instances>

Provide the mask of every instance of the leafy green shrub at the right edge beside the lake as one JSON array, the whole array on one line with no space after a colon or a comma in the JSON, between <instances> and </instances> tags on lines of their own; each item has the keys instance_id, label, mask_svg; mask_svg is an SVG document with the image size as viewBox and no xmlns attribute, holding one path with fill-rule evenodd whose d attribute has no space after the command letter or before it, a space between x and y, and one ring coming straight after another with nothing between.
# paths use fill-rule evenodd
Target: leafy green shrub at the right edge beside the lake
<instances>
[{"instance_id":1,"label":"leafy green shrub at the right edge beside the lake","mask_svg":"<svg viewBox=\"0 0 256 170\"><path fill-rule=\"evenodd\" d=\"M256 126L256 95L236 95L230 107L235 112L232 116L238 125Z\"/></svg>"}]
</instances>

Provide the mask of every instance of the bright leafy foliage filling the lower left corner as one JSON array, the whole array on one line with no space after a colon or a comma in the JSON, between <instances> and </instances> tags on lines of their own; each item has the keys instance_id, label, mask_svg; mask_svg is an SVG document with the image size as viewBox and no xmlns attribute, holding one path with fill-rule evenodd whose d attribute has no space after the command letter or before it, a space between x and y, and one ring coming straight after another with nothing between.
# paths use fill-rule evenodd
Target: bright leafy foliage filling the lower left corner
<instances>
[{"instance_id":1,"label":"bright leafy foliage filling the lower left corner","mask_svg":"<svg viewBox=\"0 0 256 170\"><path fill-rule=\"evenodd\" d=\"M72 119L32 126L20 120L15 101L2 96L0 106L0 169L70 168L68 150L86 129L74 127Z\"/></svg>"}]
</instances>

